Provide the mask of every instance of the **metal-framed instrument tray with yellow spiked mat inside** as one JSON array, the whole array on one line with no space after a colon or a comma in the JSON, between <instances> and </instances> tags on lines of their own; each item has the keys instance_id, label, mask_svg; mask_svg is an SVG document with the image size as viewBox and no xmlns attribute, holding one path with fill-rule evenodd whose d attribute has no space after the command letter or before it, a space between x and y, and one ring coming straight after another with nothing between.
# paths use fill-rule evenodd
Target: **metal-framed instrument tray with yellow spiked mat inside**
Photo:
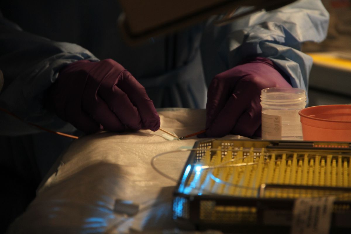
<instances>
[{"instance_id":1,"label":"metal-framed instrument tray with yellow spiked mat inside","mask_svg":"<svg viewBox=\"0 0 351 234\"><path fill-rule=\"evenodd\" d=\"M351 214L348 142L210 140L193 148L173 196L179 222L241 232L278 225L285 231L296 198L331 195L334 212ZM270 220L272 210L285 212L284 220Z\"/></svg>"}]
</instances>

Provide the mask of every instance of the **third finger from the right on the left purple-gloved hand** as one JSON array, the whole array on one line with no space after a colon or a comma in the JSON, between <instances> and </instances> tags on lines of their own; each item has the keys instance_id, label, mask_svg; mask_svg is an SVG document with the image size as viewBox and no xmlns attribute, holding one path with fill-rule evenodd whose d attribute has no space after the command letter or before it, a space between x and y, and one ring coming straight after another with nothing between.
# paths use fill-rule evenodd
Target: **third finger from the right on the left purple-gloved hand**
<instances>
[{"instance_id":1,"label":"third finger from the right on the left purple-gloved hand","mask_svg":"<svg viewBox=\"0 0 351 234\"><path fill-rule=\"evenodd\" d=\"M113 132L125 131L125 125L121 123L107 106L106 102L98 95L96 96L95 102L85 103L83 108L95 121L99 122L105 130Z\"/></svg>"}]
</instances>

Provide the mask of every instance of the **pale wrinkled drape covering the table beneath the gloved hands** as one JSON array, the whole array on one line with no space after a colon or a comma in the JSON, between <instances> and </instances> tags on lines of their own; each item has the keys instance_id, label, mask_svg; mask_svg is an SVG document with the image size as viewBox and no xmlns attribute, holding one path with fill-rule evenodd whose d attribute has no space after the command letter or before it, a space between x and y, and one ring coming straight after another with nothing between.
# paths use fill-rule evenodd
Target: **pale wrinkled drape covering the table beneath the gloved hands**
<instances>
[{"instance_id":1,"label":"pale wrinkled drape covering the table beneath the gloved hands","mask_svg":"<svg viewBox=\"0 0 351 234\"><path fill-rule=\"evenodd\" d=\"M204 109L158 112L161 128L178 136L205 126ZM174 181L158 174L151 159L192 148L198 139L170 141L162 134L150 130L105 132L74 141L8 233L157 233L176 228L172 193L189 152L165 154L154 161L155 167ZM121 209L115 209L116 200L130 201L133 213L137 205L137 214L126 217Z\"/></svg>"}]
</instances>

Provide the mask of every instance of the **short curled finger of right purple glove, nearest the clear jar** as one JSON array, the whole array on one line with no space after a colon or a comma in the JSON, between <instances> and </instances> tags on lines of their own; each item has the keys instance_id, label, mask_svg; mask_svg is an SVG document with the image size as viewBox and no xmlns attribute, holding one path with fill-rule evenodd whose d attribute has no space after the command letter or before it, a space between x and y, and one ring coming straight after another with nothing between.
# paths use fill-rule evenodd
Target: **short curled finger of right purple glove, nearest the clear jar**
<instances>
[{"instance_id":1,"label":"short curled finger of right purple glove, nearest the clear jar","mask_svg":"<svg viewBox=\"0 0 351 234\"><path fill-rule=\"evenodd\" d=\"M261 125L261 113L244 112L236 121L231 134L252 136Z\"/></svg>"}]
</instances>

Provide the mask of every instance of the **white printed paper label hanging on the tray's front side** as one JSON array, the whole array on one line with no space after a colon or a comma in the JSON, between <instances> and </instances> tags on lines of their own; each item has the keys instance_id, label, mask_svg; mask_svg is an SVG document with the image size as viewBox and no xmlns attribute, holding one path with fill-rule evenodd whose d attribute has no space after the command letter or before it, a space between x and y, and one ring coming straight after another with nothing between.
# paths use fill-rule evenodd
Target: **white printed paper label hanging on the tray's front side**
<instances>
[{"instance_id":1,"label":"white printed paper label hanging on the tray's front side","mask_svg":"<svg viewBox=\"0 0 351 234\"><path fill-rule=\"evenodd\" d=\"M335 197L295 200L291 234L327 234Z\"/></svg>"}]
</instances>

